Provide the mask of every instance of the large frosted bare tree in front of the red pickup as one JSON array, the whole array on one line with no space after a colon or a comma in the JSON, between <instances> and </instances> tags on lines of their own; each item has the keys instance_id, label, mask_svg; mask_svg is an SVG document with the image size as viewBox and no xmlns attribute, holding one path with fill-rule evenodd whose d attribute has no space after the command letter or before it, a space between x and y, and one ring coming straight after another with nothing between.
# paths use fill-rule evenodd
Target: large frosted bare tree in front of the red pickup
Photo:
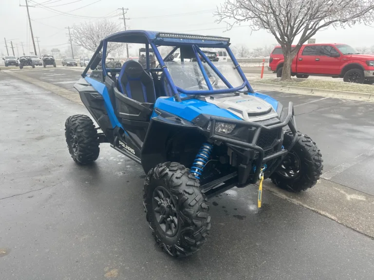
<instances>
[{"instance_id":1,"label":"large frosted bare tree in front of the red pickup","mask_svg":"<svg viewBox=\"0 0 374 280\"><path fill-rule=\"evenodd\" d=\"M319 30L374 21L374 0L225 0L214 12L227 29L246 22L274 35L284 54L282 80L291 78L292 59ZM291 45L296 37L299 42Z\"/></svg>"}]
</instances>

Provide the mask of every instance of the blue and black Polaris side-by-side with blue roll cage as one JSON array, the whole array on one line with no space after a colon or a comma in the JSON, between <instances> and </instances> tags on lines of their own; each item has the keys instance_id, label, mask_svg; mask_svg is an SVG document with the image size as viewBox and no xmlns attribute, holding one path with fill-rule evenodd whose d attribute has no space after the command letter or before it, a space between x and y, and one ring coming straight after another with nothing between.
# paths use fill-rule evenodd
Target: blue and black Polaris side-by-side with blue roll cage
<instances>
[{"instance_id":1,"label":"blue and black Polaris side-by-side with blue roll cage","mask_svg":"<svg viewBox=\"0 0 374 280\"><path fill-rule=\"evenodd\" d=\"M292 102L283 107L254 92L229 41L136 30L115 33L100 42L74 86L99 127L85 115L66 120L71 157L78 164L91 163L99 156L100 143L109 143L141 164L147 174L144 209L152 235L175 257L191 255L206 242L209 198L259 182L261 207L263 179L299 192L313 187L322 174L321 153L297 131ZM129 60L108 69L102 57L109 42L144 44L145 67ZM162 57L161 46L172 50ZM209 59L210 49L224 50L231 61ZM180 60L173 61L173 53ZM99 64L101 70L96 70Z\"/></svg>"}]
</instances>

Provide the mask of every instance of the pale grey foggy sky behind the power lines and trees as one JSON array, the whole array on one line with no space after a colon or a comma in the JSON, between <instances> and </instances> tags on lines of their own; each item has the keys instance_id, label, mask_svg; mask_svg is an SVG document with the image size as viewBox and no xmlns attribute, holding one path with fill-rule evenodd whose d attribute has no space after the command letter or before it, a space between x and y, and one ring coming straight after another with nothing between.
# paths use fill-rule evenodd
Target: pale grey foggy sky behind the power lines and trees
<instances>
[{"instance_id":1,"label":"pale grey foggy sky behind the power lines and trees","mask_svg":"<svg viewBox=\"0 0 374 280\"><path fill-rule=\"evenodd\" d=\"M46 1L34 0L37 3ZM55 1L56 3L53 3ZM50 0L50 5L48 3L44 5L55 6L74 1L76 0ZM95 1L97 0L80 0L68 5L51 8L66 13ZM111 20L123 24L123 20L119 19L120 16L116 16L114 11L124 6L125 8L129 8L126 17L131 18L127 20L131 29L222 35L230 37L234 45L245 44L249 48L276 43L274 37L266 31L251 32L249 27L237 27L224 32L225 24L216 23L210 11L215 9L220 2L223 2L223 0L101 0L88 7L70 12L70 14L85 17L103 17L109 14L113 16ZM25 45L25 53L33 51L30 29L28 28L26 17L26 7L19 7L19 4L25 5L25 0L0 0L0 53L6 54L4 37L7 40L13 39L16 55L16 44L19 45L19 53L21 53L21 41ZM29 5L35 4L29 2ZM40 50L50 50L52 48L65 50L68 47L67 30L65 27L84 21L95 20L95 18L72 18L67 15L57 15L40 7L30 7L29 10L30 18L33 19L32 27L34 36L38 36L40 40ZM118 10L116 14L119 15L120 11ZM170 16L176 14L185 15ZM314 38L316 38L317 43L347 43L354 47L369 47L374 45L374 27L356 25L353 28L346 28L345 30L335 30L330 27L327 30L318 32ZM11 49L9 49L9 53L11 53Z\"/></svg>"}]
</instances>

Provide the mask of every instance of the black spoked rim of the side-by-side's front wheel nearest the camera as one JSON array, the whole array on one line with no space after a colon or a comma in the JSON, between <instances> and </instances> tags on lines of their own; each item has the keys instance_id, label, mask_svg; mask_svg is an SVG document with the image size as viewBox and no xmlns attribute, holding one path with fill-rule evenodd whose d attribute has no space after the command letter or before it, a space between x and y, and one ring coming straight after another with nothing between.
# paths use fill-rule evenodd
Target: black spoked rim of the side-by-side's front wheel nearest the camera
<instances>
[{"instance_id":1,"label":"black spoked rim of the side-by-side's front wheel nearest the camera","mask_svg":"<svg viewBox=\"0 0 374 280\"><path fill-rule=\"evenodd\" d=\"M167 236L174 236L178 231L178 213L176 204L167 189L162 186L154 189L152 206L159 228Z\"/></svg>"}]
</instances>

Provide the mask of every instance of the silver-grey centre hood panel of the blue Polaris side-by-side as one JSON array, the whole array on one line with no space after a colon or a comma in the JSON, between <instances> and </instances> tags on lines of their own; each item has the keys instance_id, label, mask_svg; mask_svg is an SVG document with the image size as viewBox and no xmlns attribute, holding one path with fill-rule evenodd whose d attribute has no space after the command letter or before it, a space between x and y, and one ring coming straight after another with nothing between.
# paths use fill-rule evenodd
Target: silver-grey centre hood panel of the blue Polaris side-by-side
<instances>
[{"instance_id":1,"label":"silver-grey centre hood panel of the blue Polaris side-by-side","mask_svg":"<svg viewBox=\"0 0 374 280\"><path fill-rule=\"evenodd\" d=\"M219 108L226 109L248 122L257 122L278 117L277 112L271 104L252 95L240 93L233 96L232 93L229 93L201 96L198 98L204 99L206 102L214 104Z\"/></svg>"}]
</instances>

